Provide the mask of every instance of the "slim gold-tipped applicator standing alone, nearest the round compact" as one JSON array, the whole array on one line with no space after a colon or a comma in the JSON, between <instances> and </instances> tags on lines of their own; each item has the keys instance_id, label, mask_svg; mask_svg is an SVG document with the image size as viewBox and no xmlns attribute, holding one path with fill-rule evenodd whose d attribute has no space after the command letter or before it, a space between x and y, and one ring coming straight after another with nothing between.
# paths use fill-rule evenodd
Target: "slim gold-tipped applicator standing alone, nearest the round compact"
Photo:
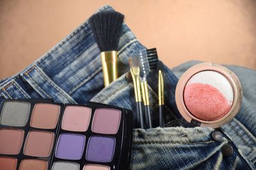
<instances>
[{"instance_id":1,"label":"slim gold-tipped applicator standing alone, nearest the round compact","mask_svg":"<svg viewBox=\"0 0 256 170\"><path fill-rule=\"evenodd\" d=\"M158 71L158 99L159 99L159 126L163 127L164 125L164 80L162 71Z\"/></svg>"}]
</instances>

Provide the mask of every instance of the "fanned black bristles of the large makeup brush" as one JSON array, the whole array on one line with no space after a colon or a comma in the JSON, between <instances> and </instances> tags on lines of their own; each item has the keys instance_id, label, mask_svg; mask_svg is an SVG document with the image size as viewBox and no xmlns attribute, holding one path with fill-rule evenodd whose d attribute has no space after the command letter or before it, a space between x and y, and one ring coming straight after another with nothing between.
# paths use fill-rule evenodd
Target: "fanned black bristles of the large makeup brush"
<instances>
[{"instance_id":1,"label":"fanned black bristles of the large makeup brush","mask_svg":"<svg viewBox=\"0 0 256 170\"><path fill-rule=\"evenodd\" d=\"M100 52L117 51L124 15L117 11L101 11L89 18Z\"/></svg>"}]
</instances>

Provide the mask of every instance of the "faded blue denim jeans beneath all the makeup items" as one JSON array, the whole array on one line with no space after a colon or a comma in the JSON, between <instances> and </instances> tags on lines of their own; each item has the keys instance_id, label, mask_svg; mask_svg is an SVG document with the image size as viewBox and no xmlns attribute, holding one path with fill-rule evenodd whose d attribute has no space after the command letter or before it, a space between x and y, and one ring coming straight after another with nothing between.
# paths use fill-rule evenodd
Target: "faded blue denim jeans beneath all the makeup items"
<instances>
[{"instance_id":1,"label":"faded blue denim jeans beneath all the makeup items","mask_svg":"<svg viewBox=\"0 0 256 170\"><path fill-rule=\"evenodd\" d=\"M113 10L104 6L101 10ZM99 48L88 22L84 22L58 45L15 76L0 81L0 96L5 98L52 98L61 103L85 104L88 101L135 109L133 83L128 57L143 48L124 24L118 44L120 78L104 88ZM175 104L175 87L180 74L196 62L188 62L171 71L159 63L164 74L167 120L171 127L157 127L157 72L148 75L148 89L155 128L134 129L131 169L255 169L256 162L256 71L228 66L243 85L242 108L228 124L216 131L208 127L191 127L180 116ZM134 113L135 114L135 113ZM223 146L234 149L231 155Z\"/></svg>"}]
</instances>

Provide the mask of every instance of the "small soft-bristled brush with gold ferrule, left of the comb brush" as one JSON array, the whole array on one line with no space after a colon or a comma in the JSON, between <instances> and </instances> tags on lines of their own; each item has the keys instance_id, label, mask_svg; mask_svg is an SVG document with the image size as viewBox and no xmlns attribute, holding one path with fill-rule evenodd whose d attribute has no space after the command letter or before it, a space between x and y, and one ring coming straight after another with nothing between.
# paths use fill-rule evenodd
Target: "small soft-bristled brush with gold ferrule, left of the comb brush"
<instances>
[{"instance_id":1,"label":"small soft-bristled brush with gold ferrule, left of the comb brush","mask_svg":"<svg viewBox=\"0 0 256 170\"><path fill-rule=\"evenodd\" d=\"M142 113L142 100L141 100L141 89L140 89L140 58L138 55L133 55L129 59L131 67L131 75L134 85L134 94L136 101L136 127L144 129L144 120Z\"/></svg>"}]
</instances>

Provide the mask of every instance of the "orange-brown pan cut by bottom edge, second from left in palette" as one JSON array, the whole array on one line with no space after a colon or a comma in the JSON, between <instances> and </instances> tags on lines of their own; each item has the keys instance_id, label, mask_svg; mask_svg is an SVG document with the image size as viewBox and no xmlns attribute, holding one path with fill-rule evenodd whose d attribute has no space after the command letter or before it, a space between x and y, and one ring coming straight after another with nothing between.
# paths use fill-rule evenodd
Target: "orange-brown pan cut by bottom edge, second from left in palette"
<instances>
[{"instance_id":1,"label":"orange-brown pan cut by bottom edge, second from left in palette","mask_svg":"<svg viewBox=\"0 0 256 170\"><path fill-rule=\"evenodd\" d=\"M46 170L48 162L40 159L24 159L20 162L19 170Z\"/></svg>"}]
</instances>

